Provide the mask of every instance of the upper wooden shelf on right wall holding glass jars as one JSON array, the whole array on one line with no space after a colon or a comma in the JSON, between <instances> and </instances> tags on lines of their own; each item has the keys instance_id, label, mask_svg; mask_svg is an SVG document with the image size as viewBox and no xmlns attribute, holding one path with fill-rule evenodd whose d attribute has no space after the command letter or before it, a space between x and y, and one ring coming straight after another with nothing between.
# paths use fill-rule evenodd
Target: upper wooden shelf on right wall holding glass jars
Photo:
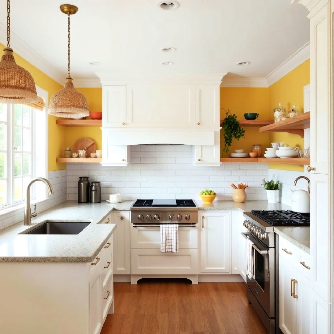
<instances>
[{"instance_id":1,"label":"upper wooden shelf on right wall holding glass jars","mask_svg":"<svg viewBox=\"0 0 334 334\"><path fill-rule=\"evenodd\" d=\"M289 132L304 137L304 129L310 127L310 112L297 115L287 120L263 126L260 132Z\"/></svg>"}]
</instances>

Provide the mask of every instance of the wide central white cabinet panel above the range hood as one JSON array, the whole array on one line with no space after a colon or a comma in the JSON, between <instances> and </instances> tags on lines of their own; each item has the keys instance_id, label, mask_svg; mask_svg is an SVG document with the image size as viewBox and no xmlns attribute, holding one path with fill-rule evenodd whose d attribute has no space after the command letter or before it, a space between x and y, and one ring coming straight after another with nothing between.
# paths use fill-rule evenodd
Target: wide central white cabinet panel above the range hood
<instances>
[{"instance_id":1,"label":"wide central white cabinet panel above the range hood","mask_svg":"<svg viewBox=\"0 0 334 334\"><path fill-rule=\"evenodd\" d=\"M194 85L127 86L127 127L193 128L194 125Z\"/></svg>"}]
</instances>

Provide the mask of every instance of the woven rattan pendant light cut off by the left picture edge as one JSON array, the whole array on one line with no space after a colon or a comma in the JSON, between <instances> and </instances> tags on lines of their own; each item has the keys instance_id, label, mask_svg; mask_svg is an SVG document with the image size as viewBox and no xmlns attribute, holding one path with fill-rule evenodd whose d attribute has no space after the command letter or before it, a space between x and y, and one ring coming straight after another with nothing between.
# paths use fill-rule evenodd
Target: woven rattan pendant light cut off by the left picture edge
<instances>
[{"instance_id":1,"label":"woven rattan pendant light cut off by the left picture edge","mask_svg":"<svg viewBox=\"0 0 334 334\"><path fill-rule=\"evenodd\" d=\"M9 47L10 1L7 0L7 47L0 61L0 103L26 104L36 102L35 81L31 74L16 64L13 49Z\"/></svg>"}]
</instances>

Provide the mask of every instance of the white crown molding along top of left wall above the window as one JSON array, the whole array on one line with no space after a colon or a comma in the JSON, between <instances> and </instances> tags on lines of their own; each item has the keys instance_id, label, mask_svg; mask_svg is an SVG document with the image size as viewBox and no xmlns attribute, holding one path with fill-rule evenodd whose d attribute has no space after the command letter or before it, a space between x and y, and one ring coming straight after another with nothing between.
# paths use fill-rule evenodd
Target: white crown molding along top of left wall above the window
<instances>
[{"instance_id":1,"label":"white crown molding along top of left wall above the window","mask_svg":"<svg viewBox=\"0 0 334 334\"><path fill-rule=\"evenodd\" d=\"M6 40L7 27L0 22L0 42L6 45ZM48 61L36 53L27 43L25 43L13 32L10 32L10 46L14 52L20 55L24 60L28 61L44 74L60 83L60 85L64 84L65 73L60 73L55 67L53 67Z\"/></svg>"}]
</instances>

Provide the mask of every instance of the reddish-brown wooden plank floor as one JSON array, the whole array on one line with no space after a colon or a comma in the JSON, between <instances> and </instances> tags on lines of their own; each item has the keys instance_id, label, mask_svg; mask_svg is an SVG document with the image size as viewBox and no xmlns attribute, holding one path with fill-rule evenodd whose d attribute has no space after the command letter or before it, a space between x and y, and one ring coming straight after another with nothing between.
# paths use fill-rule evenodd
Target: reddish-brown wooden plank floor
<instances>
[{"instance_id":1,"label":"reddish-brown wooden plank floor","mask_svg":"<svg viewBox=\"0 0 334 334\"><path fill-rule=\"evenodd\" d=\"M267 334L244 283L115 283L114 296L101 334Z\"/></svg>"}]
</instances>

